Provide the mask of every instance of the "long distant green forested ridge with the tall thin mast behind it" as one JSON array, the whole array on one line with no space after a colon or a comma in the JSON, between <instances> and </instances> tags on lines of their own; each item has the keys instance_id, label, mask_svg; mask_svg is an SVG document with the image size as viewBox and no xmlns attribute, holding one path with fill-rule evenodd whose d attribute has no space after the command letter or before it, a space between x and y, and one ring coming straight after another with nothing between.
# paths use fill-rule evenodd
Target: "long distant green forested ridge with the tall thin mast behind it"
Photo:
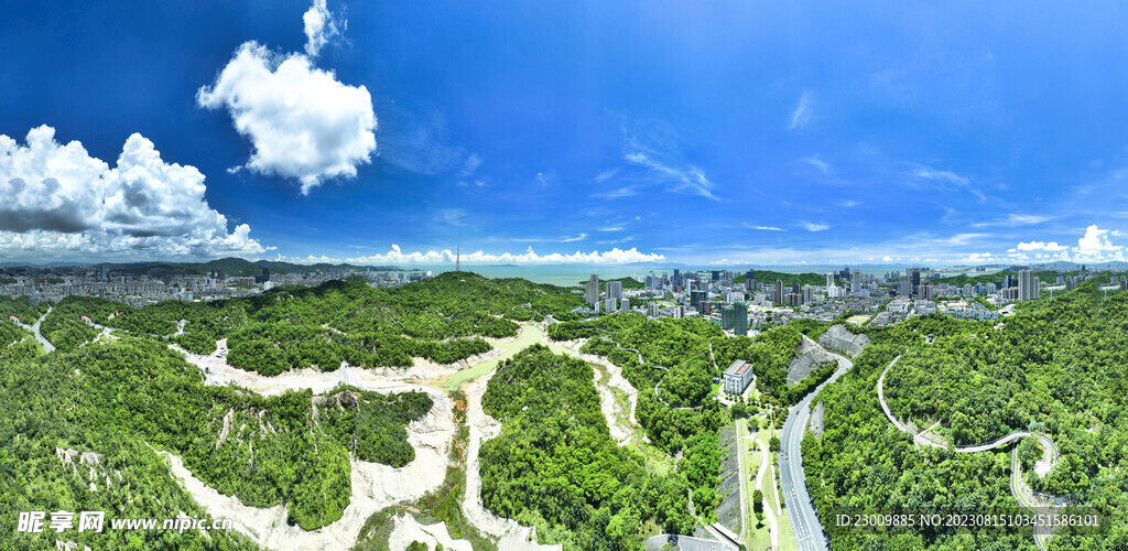
<instances>
[{"instance_id":1,"label":"long distant green forested ridge with the tall thin mast behind it","mask_svg":"<svg viewBox=\"0 0 1128 551\"><path fill-rule=\"evenodd\" d=\"M117 327L136 336L170 339L195 353L211 353L227 339L229 361L264 375L341 362L361 367L409 366L413 357L450 364L485 352L478 336L517 334L513 320L546 315L567 320L582 299L561 287L522 279L486 279L447 272L391 289L373 289L362 278L328 281L316 288L284 288L262 296L142 308L98 298L68 297L43 323L72 350L97 331L79 320ZM175 335L185 320L184 334ZM52 340L52 342L54 342Z\"/></svg>"}]
</instances>

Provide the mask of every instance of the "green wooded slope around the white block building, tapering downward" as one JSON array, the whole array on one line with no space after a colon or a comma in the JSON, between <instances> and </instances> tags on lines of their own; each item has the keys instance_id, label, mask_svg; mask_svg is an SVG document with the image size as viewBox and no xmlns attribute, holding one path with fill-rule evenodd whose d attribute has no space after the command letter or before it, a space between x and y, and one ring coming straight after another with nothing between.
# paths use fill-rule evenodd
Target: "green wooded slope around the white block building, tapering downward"
<instances>
[{"instance_id":1,"label":"green wooded slope around the white block building, tapering downward","mask_svg":"<svg viewBox=\"0 0 1128 551\"><path fill-rule=\"evenodd\" d=\"M638 390L638 425L661 453L682 455L678 472L686 474L694 508L706 521L713 518L722 499L717 495L717 431L729 419L711 396L713 378L743 359L754 366L763 400L786 406L818 384L819 377L829 376L820 373L787 385L787 365L802 340L799 331L787 326L754 341L728 338L719 326L699 318L647 320L640 314L615 314L557 323L549 326L548 335L555 340L588 338L581 352L603 356L623 367L623 376Z\"/></svg>"}]
</instances>

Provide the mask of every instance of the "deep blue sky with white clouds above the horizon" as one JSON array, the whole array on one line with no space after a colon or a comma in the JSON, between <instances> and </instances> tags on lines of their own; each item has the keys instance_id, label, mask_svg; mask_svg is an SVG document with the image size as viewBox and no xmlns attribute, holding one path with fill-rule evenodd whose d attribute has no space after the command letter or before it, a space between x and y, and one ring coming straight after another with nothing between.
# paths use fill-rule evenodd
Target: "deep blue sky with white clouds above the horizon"
<instances>
[{"instance_id":1,"label":"deep blue sky with white clouds above the horizon","mask_svg":"<svg viewBox=\"0 0 1128 551\"><path fill-rule=\"evenodd\" d=\"M1126 11L26 2L0 256L1123 260Z\"/></svg>"}]
</instances>

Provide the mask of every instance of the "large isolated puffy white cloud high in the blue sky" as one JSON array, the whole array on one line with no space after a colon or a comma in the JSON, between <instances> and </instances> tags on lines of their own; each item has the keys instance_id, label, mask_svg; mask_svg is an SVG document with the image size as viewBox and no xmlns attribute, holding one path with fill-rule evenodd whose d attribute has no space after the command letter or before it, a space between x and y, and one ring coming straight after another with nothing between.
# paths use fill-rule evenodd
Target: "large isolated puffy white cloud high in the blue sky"
<instances>
[{"instance_id":1,"label":"large isolated puffy white cloud high in the blue sky","mask_svg":"<svg viewBox=\"0 0 1128 551\"><path fill-rule=\"evenodd\" d=\"M300 53L247 42L215 82L200 88L196 103L228 110L254 146L247 168L296 178L303 194L328 178L354 177L376 150L368 89L341 84Z\"/></svg>"}]
</instances>

